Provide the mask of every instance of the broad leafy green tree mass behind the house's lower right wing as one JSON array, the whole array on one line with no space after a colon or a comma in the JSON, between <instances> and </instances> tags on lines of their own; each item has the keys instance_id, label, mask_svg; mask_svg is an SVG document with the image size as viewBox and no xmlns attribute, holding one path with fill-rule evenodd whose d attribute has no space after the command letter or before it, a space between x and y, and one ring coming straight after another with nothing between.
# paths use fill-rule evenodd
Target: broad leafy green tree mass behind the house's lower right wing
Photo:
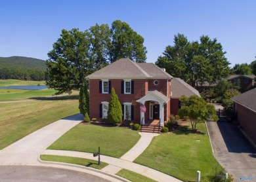
<instances>
[{"instance_id":1,"label":"broad leafy green tree mass behind the house's lower right wing","mask_svg":"<svg viewBox=\"0 0 256 182\"><path fill-rule=\"evenodd\" d=\"M189 42L187 37L178 33L174 37L174 45L165 48L156 65L195 87L205 81L213 84L228 77L230 63L224 54L226 52L217 39L211 40L202 35L200 42Z\"/></svg>"}]
</instances>

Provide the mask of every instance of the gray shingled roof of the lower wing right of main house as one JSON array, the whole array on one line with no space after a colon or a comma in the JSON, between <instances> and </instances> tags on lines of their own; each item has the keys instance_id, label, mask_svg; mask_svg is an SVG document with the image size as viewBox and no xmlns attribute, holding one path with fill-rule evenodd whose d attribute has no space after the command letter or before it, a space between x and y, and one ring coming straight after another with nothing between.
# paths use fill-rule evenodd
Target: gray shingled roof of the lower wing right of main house
<instances>
[{"instance_id":1,"label":"gray shingled roof of the lower wing right of main house","mask_svg":"<svg viewBox=\"0 0 256 182\"><path fill-rule=\"evenodd\" d=\"M181 96L189 97L192 95L200 96L200 93L196 88L190 86L190 84L179 78L171 79L171 92L173 93L171 98L181 98Z\"/></svg>"}]
</instances>

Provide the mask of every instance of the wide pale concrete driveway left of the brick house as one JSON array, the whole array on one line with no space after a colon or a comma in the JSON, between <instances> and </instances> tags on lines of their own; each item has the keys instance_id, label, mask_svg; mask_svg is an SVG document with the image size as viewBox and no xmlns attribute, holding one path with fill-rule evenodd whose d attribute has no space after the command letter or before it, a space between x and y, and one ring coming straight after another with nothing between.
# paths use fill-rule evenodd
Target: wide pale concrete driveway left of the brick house
<instances>
[{"instance_id":1,"label":"wide pale concrete driveway left of the brick house","mask_svg":"<svg viewBox=\"0 0 256 182\"><path fill-rule=\"evenodd\" d=\"M40 153L82 119L82 115L73 115L58 120L12 143L0 151L0 165L39 163Z\"/></svg>"}]
</instances>

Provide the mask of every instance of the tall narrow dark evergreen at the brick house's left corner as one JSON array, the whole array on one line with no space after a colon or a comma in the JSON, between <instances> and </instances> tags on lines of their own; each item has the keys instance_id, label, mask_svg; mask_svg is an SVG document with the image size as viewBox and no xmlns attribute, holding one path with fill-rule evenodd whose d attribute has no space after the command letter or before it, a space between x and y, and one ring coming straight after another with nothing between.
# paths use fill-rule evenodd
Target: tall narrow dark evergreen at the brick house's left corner
<instances>
[{"instance_id":1,"label":"tall narrow dark evergreen at the brick house's left corner","mask_svg":"<svg viewBox=\"0 0 256 182\"><path fill-rule=\"evenodd\" d=\"M81 85L81 88L79 90L79 111L80 113L85 116L85 114L89 113L89 93L87 84Z\"/></svg>"}]
</instances>

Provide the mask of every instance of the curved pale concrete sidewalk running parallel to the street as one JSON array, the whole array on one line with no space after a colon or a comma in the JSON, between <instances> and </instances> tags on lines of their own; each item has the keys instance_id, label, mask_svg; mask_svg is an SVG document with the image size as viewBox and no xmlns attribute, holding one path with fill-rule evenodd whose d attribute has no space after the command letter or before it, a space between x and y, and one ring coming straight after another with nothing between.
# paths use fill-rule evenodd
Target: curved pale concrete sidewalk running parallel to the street
<instances>
[{"instance_id":1,"label":"curved pale concrete sidewalk running parallel to the street","mask_svg":"<svg viewBox=\"0 0 256 182\"><path fill-rule=\"evenodd\" d=\"M75 152L75 151L46 150L41 154L42 155L74 156L79 158L88 158L88 159L95 160L95 157L93 157L92 153L82 153L82 152ZM142 166L140 164L136 164L121 158L114 158L111 156L100 155L100 160L102 162L106 162L109 164L108 166L110 166L110 168L106 168L108 167L106 166L105 168L102 169L103 171L108 173L116 174L116 171L118 172L123 168L126 170L130 170L132 172L140 173L141 175L145 175L146 177L150 177L151 179L154 179L156 181L162 181L162 182L180 181L179 179L176 179L175 177L171 177L170 175L167 175L165 173L158 172L157 170L153 170L152 168L148 168L146 166Z\"/></svg>"}]
</instances>

